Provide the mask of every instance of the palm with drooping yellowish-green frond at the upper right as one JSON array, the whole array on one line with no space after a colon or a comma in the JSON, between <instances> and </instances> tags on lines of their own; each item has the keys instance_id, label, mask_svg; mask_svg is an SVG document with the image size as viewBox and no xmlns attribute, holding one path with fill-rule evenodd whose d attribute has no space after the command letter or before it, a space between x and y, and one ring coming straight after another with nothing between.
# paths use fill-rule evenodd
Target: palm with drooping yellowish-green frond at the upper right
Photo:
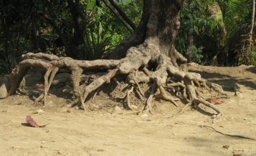
<instances>
[{"instance_id":1,"label":"palm with drooping yellowish-green frond at the upper right","mask_svg":"<svg viewBox=\"0 0 256 156\"><path fill-rule=\"evenodd\" d=\"M248 7L250 2L251 0L204 1L204 5L208 6L207 10L210 18L215 21L216 33L212 34L212 40L217 43L216 47L218 48L215 50L215 54L223 51L228 55L231 53L233 46L241 42L242 38L238 37L240 36L238 35L238 27L250 18L251 8ZM234 60L234 56L229 56L233 57L230 58L231 61Z\"/></svg>"}]
</instances>

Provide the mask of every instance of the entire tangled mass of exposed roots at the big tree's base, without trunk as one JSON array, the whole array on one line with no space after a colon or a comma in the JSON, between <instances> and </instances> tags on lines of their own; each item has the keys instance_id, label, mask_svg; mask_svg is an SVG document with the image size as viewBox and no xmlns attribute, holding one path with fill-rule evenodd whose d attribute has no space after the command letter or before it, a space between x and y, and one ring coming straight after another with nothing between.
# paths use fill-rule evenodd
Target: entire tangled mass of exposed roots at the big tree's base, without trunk
<instances>
[{"instance_id":1,"label":"entire tangled mass of exposed roots at the big tree's base, without trunk","mask_svg":"<svg viewBox=\"0 0 256 156\"><path fill-rule=\"evenodd\" d=\"M78 90L81 74L85 71L107 71L105 75L95 78L92 83L85 86L83 94L79 95L78 99L72 106L82 106L86 110L85 99L88 94L98 89L104 83L109 83L113 78L118 85L121 85L115 78L117 75L126 76L123 89L129 87L129 90L123 97L115 97L115 99L127 99L127 106L133 110L130 104L129 94L133 91L138 94L138 97L145 101L143 111L152 110L152 101L157 98L171 101L178 107L175 101L184 99L188 104L181 110L185 110L187 106L194 105L196 108L199 103L204 104L215 110L218 118L222 112L214 104L205 101L201 94L209 93L210 91L219 92L221 95L226 95L223 89L214 83L209 83L201 78L200 74L189 73L182 71L173 66L170 57L161 53L155 53L146 43L138 47L131 47L127 56L121 60L94 60L94 61L79 61L69 57L57 57L44 53L28 53L22 56L23 61L18 64L18 67L12 71L11 89L9 95L15 93L16 88L21 83L21 80L28 72L30 67L43 67L46 69L44 75L44 94L40 95L35 103L44 99L44 104L47 105L47 92L53 82L53 78L58 71L71 72L71 81L73 91ZM149 83L147 90L150 90L150 95L145 97L140 83ZM166 89L172 89L176 93L176 97L168 95ZM156 94L159 90L159 94Z\"/></svg>"}]
</instances>

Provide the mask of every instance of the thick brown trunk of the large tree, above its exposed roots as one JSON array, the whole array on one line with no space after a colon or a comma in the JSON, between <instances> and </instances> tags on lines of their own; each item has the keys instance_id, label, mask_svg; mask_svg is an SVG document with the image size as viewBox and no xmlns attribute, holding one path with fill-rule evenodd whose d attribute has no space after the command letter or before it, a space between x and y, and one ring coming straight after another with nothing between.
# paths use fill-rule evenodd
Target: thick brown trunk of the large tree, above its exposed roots
<instances>
[{"instance_id":1,"label":"thick brown trunk of the large tree, above its exposed roots","mask_svg":"<svg viewBox=\"0 0 256 156\"><path fill-rule=\"evenodd\" d=\"M185 4L185 0L164 0L163 2L144 0L143 2L141 23L130 37L122 41L106 57L121 59L125 57L130 47L143 44L148 37L147 40L156 47L158 53L171 57L175 67L178 67L178 64L185 64L187 60L178 54L173 46L180 28L180 8Z\"/></svg>"}]
</instances>

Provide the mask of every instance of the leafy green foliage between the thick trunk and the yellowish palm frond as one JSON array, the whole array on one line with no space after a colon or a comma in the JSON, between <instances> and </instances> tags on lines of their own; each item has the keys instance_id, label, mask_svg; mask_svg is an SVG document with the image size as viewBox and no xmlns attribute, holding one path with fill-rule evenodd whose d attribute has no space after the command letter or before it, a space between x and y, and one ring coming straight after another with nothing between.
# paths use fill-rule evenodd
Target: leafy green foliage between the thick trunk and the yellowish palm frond
<instances>
[{"instance_id":1,"label":"leafy green foliage between the thick trunk and the yellowish palm frond","mask_svg":"<svg viewBox=\"0 0 256 156\"><path fill-rule=\"evenodd\" d=\"M205 41L205 39L201 37L211 37L215 27L214 20L206 16L202 6L203 2L197 0L189 0L185 3L180 12L181 27L174 43L179 53L185 55L185 52L188 51L191 54L187 55L193 55L193 61L198 63L201 63L203 48L196 50L196 46L203 47L205 44L202 41ZM190 49L186 49L191 38L194 40L193 46Z\"/></svg>"}]
</instances>

